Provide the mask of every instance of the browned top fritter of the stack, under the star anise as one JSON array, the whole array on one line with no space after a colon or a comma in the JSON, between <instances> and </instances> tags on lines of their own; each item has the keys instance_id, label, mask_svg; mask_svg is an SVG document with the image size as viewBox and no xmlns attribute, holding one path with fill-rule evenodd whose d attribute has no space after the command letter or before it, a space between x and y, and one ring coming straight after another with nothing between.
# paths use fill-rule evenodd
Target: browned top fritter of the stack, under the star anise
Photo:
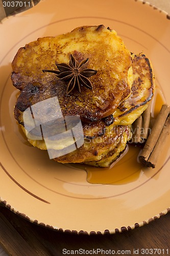
<instances>
[{"instance_id":1,"label":"browned top fritter of the stack, under the star anise","mask_svg":"<svg viewBox=\"0 0 170 256\"><path fill-rule=\"evenodd\" d=\"M70 54L80 62L89 58L89 69L98 72L90 77L93 90L81 88L65 94L66 84L53 73L56 63L69 62ZM58 96L63 115L80 116L93 122L114 112L131 92L128 71L130 52L115 31L104 26L85 26L57 37L39 38L20 48L12 62L12 82L21 90L15 117L22 123L22 112L41 100Z\"/></svg>"}]
</instances>

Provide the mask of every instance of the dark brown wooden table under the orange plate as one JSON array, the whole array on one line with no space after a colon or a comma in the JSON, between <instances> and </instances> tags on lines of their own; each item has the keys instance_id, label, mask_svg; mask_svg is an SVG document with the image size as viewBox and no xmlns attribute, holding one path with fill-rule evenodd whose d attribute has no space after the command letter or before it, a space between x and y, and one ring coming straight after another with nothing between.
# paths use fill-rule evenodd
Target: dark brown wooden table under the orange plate
<instances>
[{"instance_id":1,"label":"dark brown wooden table under the orange plate","mask_svg":"<svg viewBox=\"0 0 170 256\"><path fill-rule=\"evenodd\" d=\"M150 0L170 13L169 0ZM0 12L0 17L4 13ZM111 235L87 236L57 232L15 215L0 204L0 255L170 254L170 212L148 225ZM4 250L1 249L1 246ZM77 250L77 251L76 251ZM103 250L103 251L102 251Z\"/></svg>"}]
</instances>

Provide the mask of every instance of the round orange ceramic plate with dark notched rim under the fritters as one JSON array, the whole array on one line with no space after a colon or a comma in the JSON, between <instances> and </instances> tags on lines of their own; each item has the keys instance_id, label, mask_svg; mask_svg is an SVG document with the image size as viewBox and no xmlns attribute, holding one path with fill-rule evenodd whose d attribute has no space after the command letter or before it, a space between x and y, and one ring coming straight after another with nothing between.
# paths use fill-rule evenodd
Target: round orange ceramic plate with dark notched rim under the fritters
<instances>
[{"instance_id":1,"label":"round orange ceramic plate with dark notched rim under the fritters","mask_svg":"<svg viewBox=\"0 0 170 256\"><path fill-rule=\"evenodd\" d=\"M155 169L139 167L125 155L111 170L85 170L56 163L30 146L13 117L18 92L10 74L17 50L38 37L100 24L116 30L130 51L151 59L157 86L154 106L170 104L170 19L147 3L48 0L0 24L1 201L16 214L53 229L121 232L159 218L170 207L169 138Z\"/></svg>"}]
</instances>

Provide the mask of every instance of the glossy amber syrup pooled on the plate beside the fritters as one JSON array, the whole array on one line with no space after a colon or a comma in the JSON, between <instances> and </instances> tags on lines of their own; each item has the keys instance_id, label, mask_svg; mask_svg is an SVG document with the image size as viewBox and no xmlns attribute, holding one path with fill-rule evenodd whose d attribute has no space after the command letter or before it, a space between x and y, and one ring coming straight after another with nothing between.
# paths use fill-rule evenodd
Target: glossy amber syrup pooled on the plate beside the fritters
<instances>
[{"instance_id":1,"label":"glossy amber syrup pooled on the plate beside the fritters","mask_svg":"<svg viewBox=\"0 0 170 256\"><path fill-rule=\"evenodd\" d=\"M165 103L162 92L156 87L152 100L151 126ZM84 166L87 181L92 184L127 184L134 182L142 173L142 165L138 161L141 147L127 144L125 152L110 167Z\"/></svg>"}]
</instances>

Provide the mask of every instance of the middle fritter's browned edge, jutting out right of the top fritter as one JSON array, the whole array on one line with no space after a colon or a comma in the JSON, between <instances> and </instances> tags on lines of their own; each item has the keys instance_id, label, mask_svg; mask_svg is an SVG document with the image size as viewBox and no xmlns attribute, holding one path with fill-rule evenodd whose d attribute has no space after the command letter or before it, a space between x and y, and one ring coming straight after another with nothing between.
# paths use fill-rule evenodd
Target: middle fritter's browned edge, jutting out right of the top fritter
<instances>
[{"instance_id":1,"label":"middle fritter's browned edge, jutting out right of the top fritter","mask_svg":"<svg viewBox=\"0 0 170 256\"><path fill-rule=\"evenodd\" d=\"M154 93L154 78L149 59L144 54L132 55L133 83L132 92L128 99L119 104L115 112L98 122L84 123L84 135L93 138L105 133L114 125L124 122L132 124L147 108Z\"/></svg>"}]
</instances>

